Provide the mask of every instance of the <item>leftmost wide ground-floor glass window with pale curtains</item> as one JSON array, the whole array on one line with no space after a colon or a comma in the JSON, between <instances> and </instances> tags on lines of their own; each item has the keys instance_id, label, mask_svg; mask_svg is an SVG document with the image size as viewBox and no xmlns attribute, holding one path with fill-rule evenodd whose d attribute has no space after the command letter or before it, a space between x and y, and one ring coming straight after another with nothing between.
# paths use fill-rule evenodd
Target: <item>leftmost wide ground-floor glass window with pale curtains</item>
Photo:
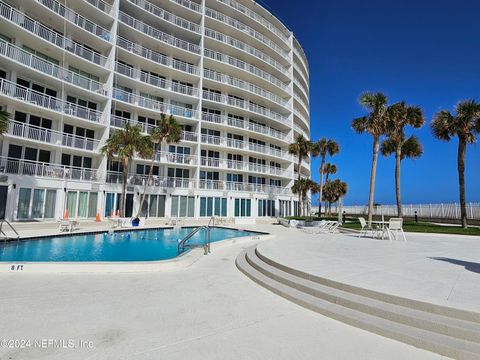
<instances>
[{"instance_id":1,"label":"leftmost wide ground-floor glass window with pale curtains","mask_svg":"<svg viewBox=\"0 0 480 360\"><path fill-rule=\"evenodd\" d=\"M20 188L17 219L53 219L57 190Z\"/></svg>"}]
</instances>

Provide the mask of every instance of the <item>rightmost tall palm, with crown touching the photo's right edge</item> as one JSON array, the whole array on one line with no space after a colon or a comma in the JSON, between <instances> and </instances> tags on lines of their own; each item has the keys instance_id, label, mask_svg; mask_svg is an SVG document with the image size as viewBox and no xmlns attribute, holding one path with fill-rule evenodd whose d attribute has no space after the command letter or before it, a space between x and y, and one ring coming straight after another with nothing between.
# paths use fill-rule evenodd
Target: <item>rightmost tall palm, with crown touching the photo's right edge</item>
<instances>
[{"instance_id":1,"label":"rightmost tall palm, with crown touching the photo's right edge","mask_svg":"<svg viewBox=\"0 0 480 360\"><path fill-rule=\"evenodd\" d=\"M465 157L467 145L477 141L480 132L480 104L475 100L465 100L455 107L456 114L448 110L438 112L431 123L433 135L440 140L450 141L458 137L458 184L460 188L460 213L462 227L466 229L467 205L465 200Z\"/></svg>"}]
</instances>

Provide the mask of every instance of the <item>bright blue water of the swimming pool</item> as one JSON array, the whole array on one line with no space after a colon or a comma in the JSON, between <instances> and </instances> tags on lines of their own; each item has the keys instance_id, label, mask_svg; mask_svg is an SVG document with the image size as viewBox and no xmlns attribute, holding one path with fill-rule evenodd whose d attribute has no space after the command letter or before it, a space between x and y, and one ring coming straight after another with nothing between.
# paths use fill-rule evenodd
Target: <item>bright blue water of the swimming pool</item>
<instances>
[{"instance_id":1,"label":"bright blue water of the swimming pool","mask_svg":"<svg viewBox=\"0 0 480 360\"><path fill-rule=\"evenodd\" d=\"M193 228L148 229L58 236L0 244L0 261L152 261L178 256L178 240ZM221 241L257 233L210 228L210 241ZM187 244L203 245L205 230Z\"/></svg>"}]
</instances>

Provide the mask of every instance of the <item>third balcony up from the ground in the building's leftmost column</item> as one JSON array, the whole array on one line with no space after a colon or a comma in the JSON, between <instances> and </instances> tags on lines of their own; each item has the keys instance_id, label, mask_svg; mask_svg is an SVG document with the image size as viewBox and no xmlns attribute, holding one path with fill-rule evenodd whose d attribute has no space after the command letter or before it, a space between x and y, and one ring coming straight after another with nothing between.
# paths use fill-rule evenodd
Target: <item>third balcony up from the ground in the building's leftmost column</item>
<instances>
[{"instance_id":1,"label":"third balcony up from the ground in the building's leftmost column","mask_svg":"<svg viewBox=\"0 0 480 360\"><path fill-rule=\"evenodd\" d=\"M100 111L45 95L5 79L1 79L0 81L0 96L7 96L16 101L94 123L101 123L102 121L102 113Z\"/></svg>"}]
</instances>

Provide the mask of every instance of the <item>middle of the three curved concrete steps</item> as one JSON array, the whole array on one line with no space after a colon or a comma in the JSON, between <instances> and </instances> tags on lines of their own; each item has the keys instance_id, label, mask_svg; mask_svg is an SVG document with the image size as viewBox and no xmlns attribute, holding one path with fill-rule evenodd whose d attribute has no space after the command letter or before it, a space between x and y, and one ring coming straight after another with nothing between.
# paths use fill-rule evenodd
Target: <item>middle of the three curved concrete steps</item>
<instances>
[{"instance_id":1,"label":"middle of the three curved concrete steps","mask_svg":"<svg viewBox=\"0 0 480 360\"><path fill-rule=\"evenodd\" d=\"M254 248L248 249L246 254L247 261L256 270L282 284L293 287L304 293L383 319L456 337L462 340L480 343L479 323L411 309L409 307L395 305L348 291L339 290L337 288L328 287L284 272L265 263L257 255L258 252L256 252Z\"/></svg>"}]
</instances>

